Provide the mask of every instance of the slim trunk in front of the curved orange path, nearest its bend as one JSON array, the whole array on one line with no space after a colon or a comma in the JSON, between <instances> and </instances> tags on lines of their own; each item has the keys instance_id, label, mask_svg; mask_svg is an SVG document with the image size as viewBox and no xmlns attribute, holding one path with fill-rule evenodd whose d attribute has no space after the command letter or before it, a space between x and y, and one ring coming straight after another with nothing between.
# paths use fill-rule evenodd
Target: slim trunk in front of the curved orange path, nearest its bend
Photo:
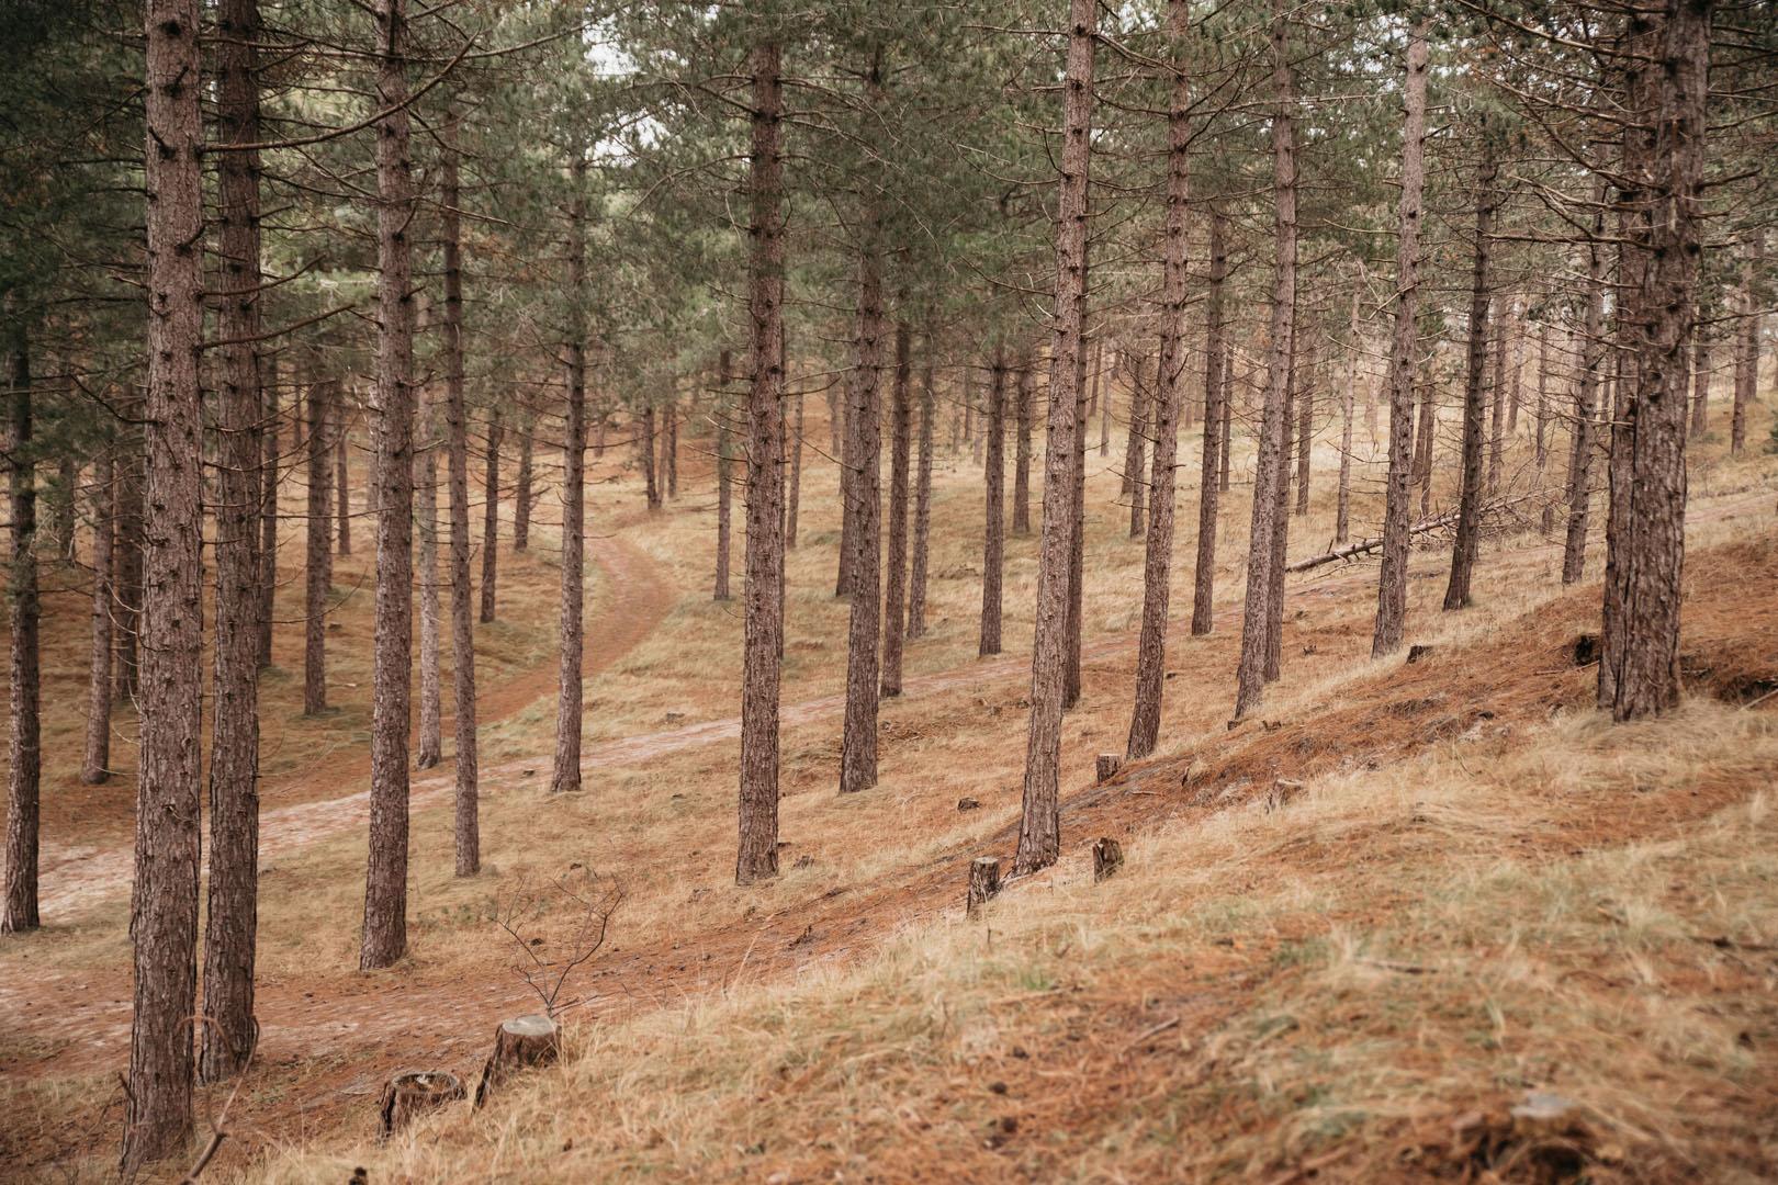
<instances>
[{"instance_id":1,"label":"slim trunk in front of the curved orange path, nearest its bend","mask_svg":"<svg viewBox=\"0 0 1778 1185\"><path fill-rule=\"evenodd\" d=\"M557 752L549 775L551 794L580 791L581 615L585 590L587 528L587 153L576 149L574 197L569 203L567 286L573 313L567 346L567 425L562 441L562 624L557 680ZM530 439L530 437L526 437Z\"/></svg>"}]
</instances>

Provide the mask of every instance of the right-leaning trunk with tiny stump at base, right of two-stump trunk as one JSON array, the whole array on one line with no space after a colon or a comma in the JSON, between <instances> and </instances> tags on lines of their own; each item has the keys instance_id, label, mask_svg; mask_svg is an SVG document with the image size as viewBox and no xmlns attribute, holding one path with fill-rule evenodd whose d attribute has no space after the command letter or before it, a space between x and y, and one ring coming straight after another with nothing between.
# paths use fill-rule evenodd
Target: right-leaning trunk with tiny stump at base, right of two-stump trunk
<instances>
[{"instance_id":1,"label":"right-leaning trunk with tiny stump at base, right of two-stump trunk","mask_svg":"<svg viewBox=\"0 0 1778 1185\"><path fill-rule=\"evenodd\" d=\"M1141 634L1136 641L1136 705L1124 753L1154 752L1161 736L1161 688L1166 680L1166 611L1173 586L1173 457L1179 409L1186 402L1188 203L1191 201L1191 75L1186 71L1189 0L1168 0L1173 37L1173 96L1166 115L1166 243L1161 254L1161 384L1154 407L1154 478L1149 549L1141 579Z\"/></svg>"}]
</instances>

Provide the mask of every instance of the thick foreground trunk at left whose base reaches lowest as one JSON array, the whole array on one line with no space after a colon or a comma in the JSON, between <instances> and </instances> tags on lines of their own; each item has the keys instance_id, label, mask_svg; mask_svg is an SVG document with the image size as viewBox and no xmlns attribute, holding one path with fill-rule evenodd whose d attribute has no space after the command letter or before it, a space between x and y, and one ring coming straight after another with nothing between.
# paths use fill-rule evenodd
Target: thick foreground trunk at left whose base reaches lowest
<instances>
[{"instance_id":1,"label":"thick foreground trunk at left whose base reaches lowest","mask_svg":"<svg viewBox=\"0 0 1778 1185\"><path fill-rule=\"evenodd\" d=\"M197 0L148 0L148 462L140 776L130 938L135 1011L123 1173L192 1133L203 704L203 117ZM14 387L21 387L14 382Z\"/></svg>"}]
</instances>

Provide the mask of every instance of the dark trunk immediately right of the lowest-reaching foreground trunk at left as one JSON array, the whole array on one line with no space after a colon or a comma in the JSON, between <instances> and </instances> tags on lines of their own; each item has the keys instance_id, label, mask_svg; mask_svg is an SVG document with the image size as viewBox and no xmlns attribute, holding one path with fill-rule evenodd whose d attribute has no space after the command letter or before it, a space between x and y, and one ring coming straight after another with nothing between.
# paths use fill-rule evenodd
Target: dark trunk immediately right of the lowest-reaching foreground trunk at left
<instances>
[{"instance_id":1,"label":"dark trunk immediately right of the lowest-reaching foreground trunk at left","mask_svg":"<svg viewBox=\"0 0 1778 1185\"><path fill-rule=\"evenodd\" d=\"M224 140L260 139L258 0L222 0L217 114ZM252 972L260 911L260 163L219 155L222 346L220 499L215 508L215 714L210 741L210 895L197 1071L238 1073L252 1055Z\"/></svg>"}]
</instances>

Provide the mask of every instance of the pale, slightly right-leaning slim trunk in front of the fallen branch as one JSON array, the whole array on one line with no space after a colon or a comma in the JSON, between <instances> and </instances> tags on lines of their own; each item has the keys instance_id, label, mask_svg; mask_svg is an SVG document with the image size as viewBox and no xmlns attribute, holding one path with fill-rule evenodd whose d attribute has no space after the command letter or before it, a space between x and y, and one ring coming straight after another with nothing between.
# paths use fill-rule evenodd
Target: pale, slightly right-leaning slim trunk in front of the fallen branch
<instances>
[{"instance_id":1,"label":"pale, slightly right-leaning slim trunk in front of the fallen branch","mask_svg":"<svg viewBox=\"0 0 1778 1185\"><path fill-rule=\"evenodd\" d=\"M1389 474L1383 478L1383 563L1376 579L1371 657L1401 647L1408 627L1408 499L1414 492L1414 318L1421 306L1421 197L1426 188L1426 21L1408 39L1401 128L1401 197L1396 210L1396 323L1389 341Z\"/></svg>"}]
</instances>

